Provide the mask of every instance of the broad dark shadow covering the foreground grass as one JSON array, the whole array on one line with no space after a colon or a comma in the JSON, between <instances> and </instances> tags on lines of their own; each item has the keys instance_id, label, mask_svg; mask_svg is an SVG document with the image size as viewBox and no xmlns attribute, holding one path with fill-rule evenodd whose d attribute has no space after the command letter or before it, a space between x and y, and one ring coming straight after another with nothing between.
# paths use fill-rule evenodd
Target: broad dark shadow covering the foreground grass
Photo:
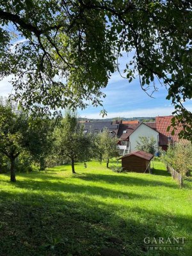
<instances>
[{"instance_id":1,"label":"broad dark shadow covering the foreground grass","mask_svg":"<svg viewBox=\"0 0 192 256\"><path fill-rule=\"evenodd\" d=\"M78 186L68 184L67 188L74 193ZM42 193L34 194L30 189L25 194L1 191L1 256L95 256L108 247L116 248L121 255L150 255L143 243L146 236L163 237L165 229L171 236L175 226L180 230L190 221L183 216L168 218L159 212L139 207L125 209L78 195L74 202L58 193L47 195L42 189ZM51 190L55 188L51 186ZM140 218L134 218L138 214ZM116 237L118 243L111 242L110 237ZM159 255L182 254L167 251Z\"/></svg>"}]
</instances>

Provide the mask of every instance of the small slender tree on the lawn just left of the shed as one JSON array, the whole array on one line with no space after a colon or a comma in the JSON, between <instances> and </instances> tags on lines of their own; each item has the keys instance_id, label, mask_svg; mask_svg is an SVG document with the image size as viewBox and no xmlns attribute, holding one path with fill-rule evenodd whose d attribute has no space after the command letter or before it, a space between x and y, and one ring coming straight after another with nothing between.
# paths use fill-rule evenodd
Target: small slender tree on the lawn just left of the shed
<instances>
[{"instance_id":1,"label":"small slender tree on the lawn just left of the shed","mask_svg":"<svg viewBox=\"0 0 192 256\"><path fill-rule=\"evenodd\" d=\"M117 148L117 139L112 138L108 129L97 135L96 145L97 145L97 158L99 161L105 160L107 168L109 168L109 159L112 157L119 156Z\"/></svg>"}]
</instances>

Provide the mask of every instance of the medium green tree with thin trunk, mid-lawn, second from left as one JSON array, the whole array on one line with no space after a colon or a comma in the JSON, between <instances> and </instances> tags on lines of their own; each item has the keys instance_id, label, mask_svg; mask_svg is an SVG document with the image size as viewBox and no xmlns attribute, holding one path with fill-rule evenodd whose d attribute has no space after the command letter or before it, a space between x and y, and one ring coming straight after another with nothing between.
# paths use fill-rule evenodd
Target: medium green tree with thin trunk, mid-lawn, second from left
<instances>
[{"instance_id":1,"label":"medium green tree with thin trunk, mid-lawn, second from left","mask_svg":"<svg viewBox=\"0 0 192 256\"><path fill-rule=\"evenodd\" d=\"M88 161L91 156L92 139L84 134L84 127L77 122L76 113L67 111L60 127L55 131L56 152L62 157L71 159L72 173L76 173L76 161Z\"/></svg>"}]
</instances>

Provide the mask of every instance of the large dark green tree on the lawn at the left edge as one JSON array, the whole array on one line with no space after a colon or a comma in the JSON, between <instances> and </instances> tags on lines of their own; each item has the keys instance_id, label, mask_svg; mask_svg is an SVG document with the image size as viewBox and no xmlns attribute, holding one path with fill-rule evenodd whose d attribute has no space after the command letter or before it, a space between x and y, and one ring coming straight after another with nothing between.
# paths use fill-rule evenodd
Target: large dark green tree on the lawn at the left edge
<instances>
[{"instance_id":1,"label":"large dark green tree on the lawn at the left edge","mask_svg":"<svg viewBox=\"0 0 192 256\"><path fill-rule=\"evenodd\" d=\"M50 122L44 118L34 120L14 102L0 98L0 160L2 166L6 166L3 156L10 160L11 177L15 176L15 170L31 171L34 162L40 163L40 169L44 170L45 157L53 141Z\"/></svg>"}]
</instances>

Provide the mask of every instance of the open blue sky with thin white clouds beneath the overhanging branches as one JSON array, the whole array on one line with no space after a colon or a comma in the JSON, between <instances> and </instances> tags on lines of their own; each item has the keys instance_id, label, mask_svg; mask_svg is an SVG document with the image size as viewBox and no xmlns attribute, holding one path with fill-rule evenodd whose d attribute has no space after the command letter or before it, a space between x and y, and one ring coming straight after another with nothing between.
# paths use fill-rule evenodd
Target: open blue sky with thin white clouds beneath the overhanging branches
<instances>
[{"instance_id":1,"label":"open blue sky with thin white clouds beneath the overhanging branches","mask_svg":"<svg viewBox=\"0 0 192 256\"><path fill-rule=\"evenodd\" d=\"M125 53L119 60L120 71L124 70L125 63L129 61L131 56ZM12 86L8 81L11 77L6 77L0 81L0 95L8 96L12 92ZM106 98L103 99L103 107L108 112L105 118L121 117L137 117L137 116L161 116L172 115L173 106L170 100L166 100L167 91L164 86L157 83L158 92L153 94L154 99L150 98L147 93L143 92L140 87L138 77L131 83L127 79L115 72L109 80L108 86L103 90L106 93ZM189 111L192 111L192 100L185 102L185 106ZM81 111L78 109L78 114L86 118L102 118L100 111L102 107L94 108L90 105L88 108Z\"/></svg>"}]
</instances>

